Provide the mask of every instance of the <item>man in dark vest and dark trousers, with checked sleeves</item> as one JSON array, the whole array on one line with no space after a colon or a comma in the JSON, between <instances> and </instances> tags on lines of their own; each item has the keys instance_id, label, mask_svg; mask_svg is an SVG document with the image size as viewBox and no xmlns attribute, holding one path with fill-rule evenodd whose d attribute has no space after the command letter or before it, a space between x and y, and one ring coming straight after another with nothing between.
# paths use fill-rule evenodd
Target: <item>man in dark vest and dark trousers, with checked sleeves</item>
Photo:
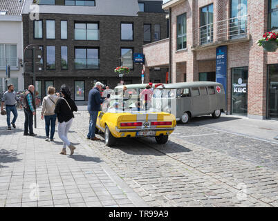
<instances>
[{"instance_id":1,"label":"man in dark vest and dark trousers, with checked sleeves","mask_svg":"<svg viewBox=\"0 0 278 221\"><path fill-rule=\"evenodd\" d=\"M33 116L36 115L36 102L34 91L35 87L33 85L29 85L28 90L26 91L26 93L24 93L24 136L37 136L37 134L33 132Z\"/></svg>"}]
</instances>

